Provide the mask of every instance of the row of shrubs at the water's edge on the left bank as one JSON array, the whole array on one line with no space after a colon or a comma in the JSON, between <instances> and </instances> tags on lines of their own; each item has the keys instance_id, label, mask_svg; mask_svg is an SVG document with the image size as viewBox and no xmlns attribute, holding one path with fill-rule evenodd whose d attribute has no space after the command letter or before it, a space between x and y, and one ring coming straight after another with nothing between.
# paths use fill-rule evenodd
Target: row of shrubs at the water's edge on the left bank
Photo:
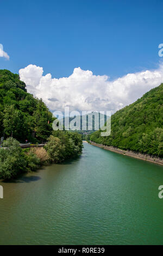
<instances>
[{"instance_id":1,"label":"row of shrubs at the water's edge on the left bank","mask_svg":"<svg viewBox=\"0 0 163 256\"><path fill-rule=\"evenodd\" d=\"M21 149L15 138L8 138L0 149L0 179L35 171L48 163L59 163L82 153L82 137L78 133L55 131L44 148Z\"/></svg>"}]
</instances>

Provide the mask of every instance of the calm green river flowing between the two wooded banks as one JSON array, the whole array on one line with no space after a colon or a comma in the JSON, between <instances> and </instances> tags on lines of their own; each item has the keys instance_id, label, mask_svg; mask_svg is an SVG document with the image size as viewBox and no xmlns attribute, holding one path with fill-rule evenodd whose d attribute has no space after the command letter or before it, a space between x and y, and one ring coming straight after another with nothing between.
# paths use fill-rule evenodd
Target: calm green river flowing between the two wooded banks
<instances>
[{"instance_id":1,"label":"calm green river flowing between the two wooded banks","mask_svg":"<svg viewBox=\"0 0 163 256\"><path fill-rule=\"evenodd\" d=\"M0 185L1 245L163 244L162 166L84 143L78 159Z\"/></svg>"}]
</instances>

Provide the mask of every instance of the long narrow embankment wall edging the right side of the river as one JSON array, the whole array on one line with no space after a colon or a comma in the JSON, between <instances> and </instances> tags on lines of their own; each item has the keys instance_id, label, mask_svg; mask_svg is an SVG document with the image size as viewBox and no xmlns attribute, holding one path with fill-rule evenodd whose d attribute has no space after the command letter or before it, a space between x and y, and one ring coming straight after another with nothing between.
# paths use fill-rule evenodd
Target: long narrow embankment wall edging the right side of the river
<instances>
[{"instance_id":1,"label":"long narrow embankment wall edging the right side of the river","mask_svg":"<svg viewBox=\"0 0 163 256\"><path fill-rule=\"evenodd\" d=\"M92 141L90 141L90 144L93 146L99 147L99 148L103 148L103 149L118 153L118 154L134 157L136 159L160 164L161 166L163 166L163 160L160 159L159 157L152 157L148 154L135 153L134 151L131 151L131 150L118 149L118 148L114 148L112 146L106 146L106 145L98 144L98 143L92 142Z\"/></svg>"}]
</instances>

